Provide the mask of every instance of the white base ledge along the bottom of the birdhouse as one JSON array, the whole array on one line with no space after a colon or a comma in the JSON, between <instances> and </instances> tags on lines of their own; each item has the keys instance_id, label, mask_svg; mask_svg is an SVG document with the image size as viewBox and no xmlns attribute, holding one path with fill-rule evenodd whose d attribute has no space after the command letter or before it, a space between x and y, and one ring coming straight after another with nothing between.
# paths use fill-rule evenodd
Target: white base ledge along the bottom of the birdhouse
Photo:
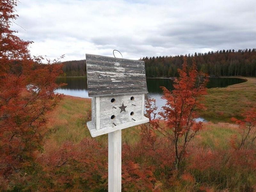
<instances>
[{"instance_id":1,"label":"white base ledge along the bottom of the birdhouse","mask_svg":"<svg viewBox=\"0 0 256 192\"><path fill-rule=\"evenodd\" d=\"M115 127L106 127L106 128L98 129L98 130L94 127L92 121L89 121L86 124L87 124L87 127L88 127L92 137L97 137L99 135L103 135L106 133L114 132L117 130L125 129L128 127L132 127L132 126L147 123L147 122L149 122L149 119L147 117L143 117L142 119L136 120L134 122L128 122L128 123L116 125Z\"/></svg>"}]
</instances>

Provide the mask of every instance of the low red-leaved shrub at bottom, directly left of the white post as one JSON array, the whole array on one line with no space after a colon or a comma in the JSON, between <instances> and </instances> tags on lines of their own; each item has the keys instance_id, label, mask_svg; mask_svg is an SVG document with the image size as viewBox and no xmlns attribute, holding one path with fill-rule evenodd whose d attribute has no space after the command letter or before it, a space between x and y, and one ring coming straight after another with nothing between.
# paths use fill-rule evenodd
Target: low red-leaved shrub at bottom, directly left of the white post
<instances>
[{"instance_id":1,"label":"low red-leaved shrub at bottom, directly left of the white post","mask_svg":"<svg viewBox=\"0 0 256 192\"><path fill-rule=\"evenodd\" d=\"M47 173L49 191L92 191L108 185L108 151L92 139L64 143L37 158Z\"/></svg>"}]
</instances>

